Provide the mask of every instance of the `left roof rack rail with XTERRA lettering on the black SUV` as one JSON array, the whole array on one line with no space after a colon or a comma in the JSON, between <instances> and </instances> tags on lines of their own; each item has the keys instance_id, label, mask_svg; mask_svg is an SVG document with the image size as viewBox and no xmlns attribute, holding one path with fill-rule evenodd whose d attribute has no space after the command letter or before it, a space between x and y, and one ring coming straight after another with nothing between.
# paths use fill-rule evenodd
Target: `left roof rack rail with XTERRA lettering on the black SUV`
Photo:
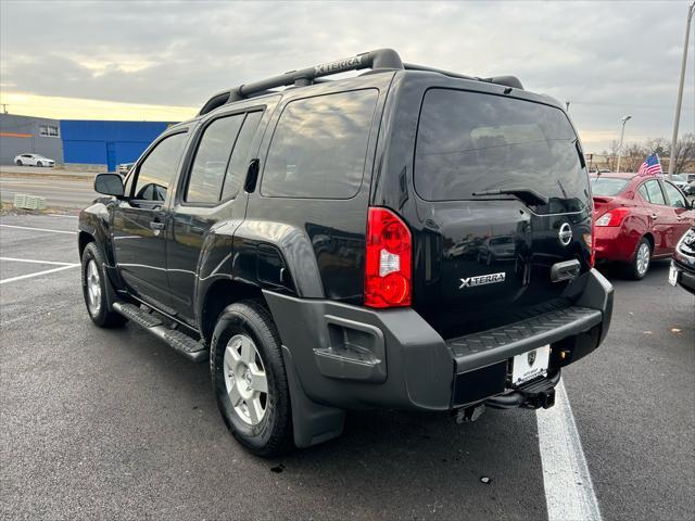
<instances>
[{"instance_id":1,"label":"left roof rack rail with XTERRA lettering on the black SUV","mask_svg":"<svg viewBox=\"0 0 695 521\"><path fill-rule=\"evenodd\" d=\"M355 56L338 60L329 63L321 63L314 67L291 71L289 73L262 79L252 84L240 85L231 90L218 92L203 105L199 115L208 112L232 101L239 101L252 97L257 92L268 91L276 87L289 85L312 85L316 79L330 76L346 71L371 69L394 69L403 68L401 56L393 49L377 49L376 51L364 52Z\"/></svg>"}]
</instances>

